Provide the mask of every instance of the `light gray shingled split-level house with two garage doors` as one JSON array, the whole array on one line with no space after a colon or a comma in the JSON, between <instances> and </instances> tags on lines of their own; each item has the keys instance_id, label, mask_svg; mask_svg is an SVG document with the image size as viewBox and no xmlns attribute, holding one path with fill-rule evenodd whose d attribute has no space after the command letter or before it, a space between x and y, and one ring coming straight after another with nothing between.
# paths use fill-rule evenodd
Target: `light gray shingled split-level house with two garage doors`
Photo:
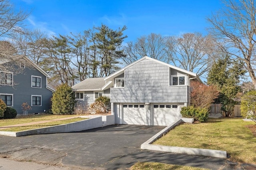
<instances>
[{"instance_id":1,"label":"light gray shingled split-level house with two garage doors","mask_svg":"<svg viewBox=\"0 0 256 170\"><path fill-rule=\"evenodd\" d=\"M106 78L89 78L75 86L76 98L91 104L100 95L110 96L115 123L169 125L190 103L193 72L143 57Z\"/></svg>"}]
</instances>

